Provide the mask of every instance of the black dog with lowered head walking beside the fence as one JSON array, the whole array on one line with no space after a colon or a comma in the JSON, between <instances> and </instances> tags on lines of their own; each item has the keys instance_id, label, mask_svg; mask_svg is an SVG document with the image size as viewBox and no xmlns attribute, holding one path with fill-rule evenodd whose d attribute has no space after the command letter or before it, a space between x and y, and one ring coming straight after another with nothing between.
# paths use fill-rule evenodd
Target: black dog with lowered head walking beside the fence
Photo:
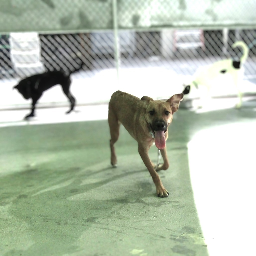
<instances>
[{"instance_id":1,"label":"black dog with lowered head walking beside the fence","mask_svg":"<svg viewBox=\"0 0 256 256\"><path fill-rule=\"evenodd\" d=\"M69 91L71 84L70 74L77 72L81 68L82 65L78 69L69 72L69 74L66 74L64 71L48 71L42 74L35 74L21 80L16 86L14 86L13 88L17 89L26 100L32 98L31 113L25 116L25 119L34 116L35 105L43 92L57 84L61 85L63 92L67 95L71 103L70 110L67 111L66 114L70 113L74 109L76 102L76 99Z\"/></svg>"}]
</instances>

